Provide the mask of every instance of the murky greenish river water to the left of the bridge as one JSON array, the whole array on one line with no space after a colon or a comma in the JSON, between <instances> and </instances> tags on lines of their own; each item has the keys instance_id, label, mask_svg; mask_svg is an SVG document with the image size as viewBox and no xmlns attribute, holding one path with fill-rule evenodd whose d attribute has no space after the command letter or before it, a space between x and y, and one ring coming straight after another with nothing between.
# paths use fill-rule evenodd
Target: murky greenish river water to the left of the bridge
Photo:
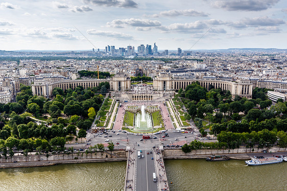
<instances>
[{"instance_id":1,"label":"murky greenish river water to the left of the bridge","mask_svg":"<svg viewBox=\"0 0 287 191\"><path fill-rule=\"evenodd\" d=\"M0 190L124 190L126 162L0 169Z\"/></svg>"}]
</instances>

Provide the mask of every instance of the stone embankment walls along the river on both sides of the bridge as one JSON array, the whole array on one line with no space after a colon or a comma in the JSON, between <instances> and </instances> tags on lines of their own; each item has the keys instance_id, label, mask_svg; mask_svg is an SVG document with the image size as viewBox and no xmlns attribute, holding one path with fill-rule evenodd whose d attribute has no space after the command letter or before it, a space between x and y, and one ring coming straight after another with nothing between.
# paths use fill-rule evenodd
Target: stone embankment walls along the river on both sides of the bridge
<instances>
[{"instance_id":1,"label":"stone embankment walls along the river on both sides of the bridge","mask_svg":"<svg viewBox=\"0 0 287 191\"><path fill-rule=\"evenodd\" d=\"M236 150L237 151L237 150ZM184 153L181 149L165 149L162 151L162 157L164 160L169 159L205 159L210 155L226 155L230 159L236 160L248 160L250 157L264 156L272 157L287 155L287 151L276 151L274 148L263 152L264 150L257 150L258 152L240 152L243 150L238 150L238 153L230 153L228 150L197 150L190 153ZM67 163L86 163L86 162L113 162L113 161L127 161L128 152L126 151L113 151L110 152L97 152L97 153L75 153L74 155L60 154L60 155L28 155L25 156L14 156L12 159L9 157L7 159L0 159L0 169L6 168L25 168L25 167L38 167L38 166L51 166L57 164L67 164Z\"/></svg>"}]
</instances>

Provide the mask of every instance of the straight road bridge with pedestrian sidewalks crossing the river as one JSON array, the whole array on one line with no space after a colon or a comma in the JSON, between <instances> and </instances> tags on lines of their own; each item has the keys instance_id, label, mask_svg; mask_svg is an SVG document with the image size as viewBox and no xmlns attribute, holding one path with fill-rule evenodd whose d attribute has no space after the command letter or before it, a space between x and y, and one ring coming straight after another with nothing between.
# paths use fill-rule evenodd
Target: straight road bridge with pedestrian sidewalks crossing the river
<instances>
[{"instance_id":1,"label":"straight road bridge with pedestrian sidewalks crossing the river","mask_svg":"<svg viewBox=\"0 0 287 191\"><path fill-rule=\"evenodd\" d=\"M140 152L140 158L137 154ZM149 153L149 154L148 154ZM143 157L142 157L143 156ZM157 181L153 180L153 173ZM126 191L169 191L161 150L130 149L125 180Z\"/></svg>"}]
</instances>

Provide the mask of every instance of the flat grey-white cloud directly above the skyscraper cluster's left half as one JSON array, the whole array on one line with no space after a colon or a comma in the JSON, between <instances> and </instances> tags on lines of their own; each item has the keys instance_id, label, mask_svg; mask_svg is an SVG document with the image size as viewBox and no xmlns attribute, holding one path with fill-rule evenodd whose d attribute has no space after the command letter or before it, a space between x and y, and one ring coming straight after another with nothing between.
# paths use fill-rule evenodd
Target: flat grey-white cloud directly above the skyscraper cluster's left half
<instances>
[{"instance_id":1,"label":"flat grey-white cloud directly above the skyscraper cluster's left half","mask_svg":"<svg viewBox=\"0 0 287 191\"><path fill-rule=\"evenodd\" d=\"M111 22L107 22L107 26L113 28L124 28L124 26L158 27L161 26L161 23L158 20L127 18L127 19L116 19Z\"/></svg>"}]
</instances>

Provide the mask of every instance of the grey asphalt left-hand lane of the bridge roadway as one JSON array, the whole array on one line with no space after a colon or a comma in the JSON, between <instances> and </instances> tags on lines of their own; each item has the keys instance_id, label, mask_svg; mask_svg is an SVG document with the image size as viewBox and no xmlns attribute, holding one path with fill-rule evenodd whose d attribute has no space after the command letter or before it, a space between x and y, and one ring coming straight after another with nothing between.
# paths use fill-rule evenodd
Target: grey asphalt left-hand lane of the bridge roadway
<instances>
[{"instance_id":1,"label":"grey asphalt left-hand lane of the bridge roadway","mask_svg":"<svg viewBox=\"0 0 287 191\"><path fill-rule=\"evenodd\" d=\"M137 150L139 151L139 150ZM144 155L145 151L140 153ZM147 186L147 164L146 158L137 158L136 162L136 191L146 191L148 190Z\"/></svg>"}]
</instances>

